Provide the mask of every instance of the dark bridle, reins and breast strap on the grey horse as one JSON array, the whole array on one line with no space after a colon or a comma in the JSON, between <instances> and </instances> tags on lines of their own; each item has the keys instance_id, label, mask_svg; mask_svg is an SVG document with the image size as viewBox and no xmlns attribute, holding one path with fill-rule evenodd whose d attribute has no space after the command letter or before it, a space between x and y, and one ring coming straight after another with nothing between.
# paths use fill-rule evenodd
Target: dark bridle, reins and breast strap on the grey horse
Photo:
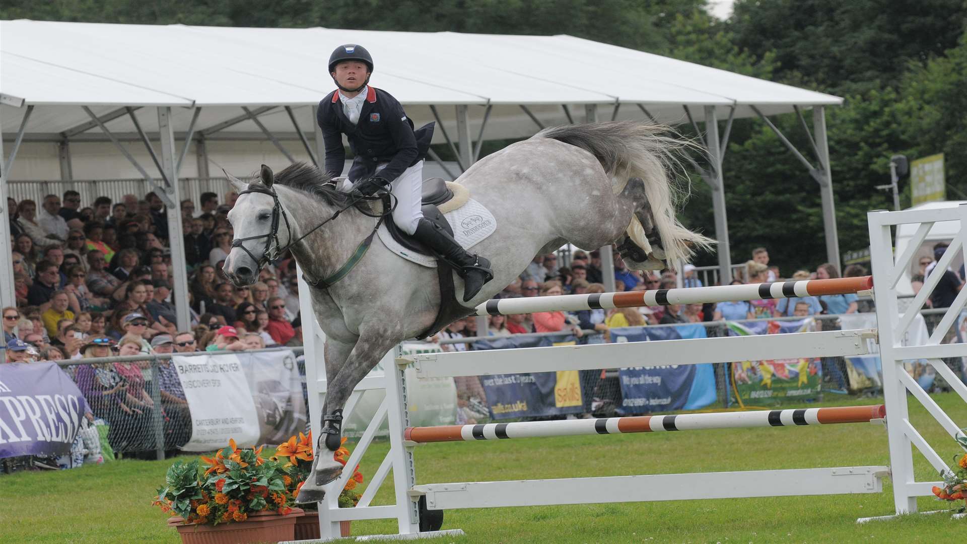
<instances>
[{"instance_id":1,"label":"dark bridle, reins and breast strap on the grey horse","mask_svg":"<svg viewBox=\"0 0 967 544\"><path fill-rule=\"evenodd\" d=\"M341 214L342 212L346 211L347 209L353 206L356 206L357 209L359 209L360 212L362 212L366 216L379 218L379 221L376 222L376 227L373 227L372 231L369 232L369 235L366 236L366 239L360 242L359 246L356 247L356 251L353 252L352 257L349 257L349 259L328 278L323 278L321 280L313 281L313 280L310 280L308 276L303 274L303 279L306 280L306 283L308 283L309 286L315 287L315 288L321 288L321 289L332 287L339 280L341 280L347 274L349 274L349 271L352 270L353 267L355 267L356 264L360 261L360 259L366 255L366 250L369 249L369 244L372 243L373 236L376 234L376 231L379 229L380 225L383 224L383 221L386 219L386 216L392 214L393 210L396 208L396 204L392 206L390 205L393 196L389 193L384 193L381 196L355 195L353 196L352 201L350 201L345 206L337 209L336 213L330 216L329 219L323 221L322 223L320 223L319 225L316 225L315 227L312 227L311 229L308 230L308 232L296 238L295 240L292 240L292 226L289 224L289 218L285 214L285 210L282 208L281 202L278 200L278 194L269 188L264 188L264 189L260 187L251 188L249 186L249 189L246 189L245 191L242 191L241 193L239 193L239 196L248 195L249 193L260 193L262 195L272 196L272 199L274 202L272 206L272 228L267 233L258 234L256 236L249 236L247 238L235 238L234 240L232 240L232 247L242 248L242 251L244 251L249 257L251 257L252 260L255 261L255 265L258 269L261 269L263 266L265 266L266 263L276 260L278 256L282 254L282 252L288 250L292 246L301 242L309 234L311 234L312 232L315 232L320 227L335 220L337 217L339 217L339 214ZM372 215L367 213L363 209L359 208L357 204L363 200L382 200L383 213L378 215ZM279 217L281 217L285 221L285 231L288 233L289 240L291 240L285 246L282 246L281 242L278 240ZM255 256L252 255L252 253L249 251L249 248L243 245L243 242L246 242L249 240L260 240L262 238L266 238L265 250L262 252L261 258L255 258ZM275 242L275 251L273 251L273 242Z\"/></svg>"}]
</instances>

